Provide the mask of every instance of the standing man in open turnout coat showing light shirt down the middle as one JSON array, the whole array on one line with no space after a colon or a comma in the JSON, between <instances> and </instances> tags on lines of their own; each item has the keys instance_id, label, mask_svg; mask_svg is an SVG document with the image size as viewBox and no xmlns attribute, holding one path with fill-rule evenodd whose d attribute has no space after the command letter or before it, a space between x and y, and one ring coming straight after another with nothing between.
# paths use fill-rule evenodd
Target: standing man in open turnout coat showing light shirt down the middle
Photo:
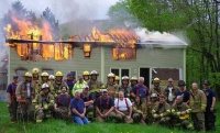
<instances>
[{"instance_id":1,"label":"standing man in open turnout coat showing light shirt down the middle","mask_svg":"<svg viewBox=\"0 0 220 133\"><path fill-rule=\"evenodd\" d=\"M166 102L170 106L175 102L177 92L179 91L179 88L174 86L174 80L172 78L168 79L168 85L164 90L164 96L166 99Z\"/></svg>"}]
</instances>

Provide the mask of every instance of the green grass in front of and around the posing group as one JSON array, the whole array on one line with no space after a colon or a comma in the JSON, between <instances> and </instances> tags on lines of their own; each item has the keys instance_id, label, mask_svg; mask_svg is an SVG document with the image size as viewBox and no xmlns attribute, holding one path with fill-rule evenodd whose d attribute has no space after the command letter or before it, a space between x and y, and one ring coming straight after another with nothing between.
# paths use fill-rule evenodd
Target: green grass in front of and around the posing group
<instances>
[{"instance_id":1,"label":"green grass in front of and around the posing group","mask_svg":"<svg viewBox=\"0 0 220 133\"><path fill-rule=\"evenodd\" d=\"M10 118L6 102L0 102L0 133L24 133L23 124L10 124ZM220 102L217 104L220 110ZM220 113L217 114L217 133L220 131ZM118 123L98 123L94 122L88 125L76 125L70 122L50 120L41 124L25 123L26 133L186 133L178 129L168 129L160 125L140 125L140 124L118 124ZM193 133L193 132L190 132ZM196 133L196 132L195 132Z\"/></svg>"}]
</instances>

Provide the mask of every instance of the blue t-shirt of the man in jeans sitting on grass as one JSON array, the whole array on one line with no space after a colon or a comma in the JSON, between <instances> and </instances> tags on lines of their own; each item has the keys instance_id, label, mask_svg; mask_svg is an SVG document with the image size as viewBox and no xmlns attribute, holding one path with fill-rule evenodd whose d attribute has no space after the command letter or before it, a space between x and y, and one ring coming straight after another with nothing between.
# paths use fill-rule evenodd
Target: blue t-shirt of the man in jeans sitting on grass
<instances>
[{"instance_id":1,"label":"blue t-shirt of the man in jeans sitting on grass","mask_svg":"<svg viewBox=\"0 0 220 133\"><path fill-rule=\"evenodd\" d=\"M84 108L85 108L85 104L84 104L84 100L82 99L72 99L72 102L70 102L70 109L76 109L80 114L84 113ZM75 114L73 111L72 111L72 114L73 115L77 115Z\"/></svg>"}]
</instances>

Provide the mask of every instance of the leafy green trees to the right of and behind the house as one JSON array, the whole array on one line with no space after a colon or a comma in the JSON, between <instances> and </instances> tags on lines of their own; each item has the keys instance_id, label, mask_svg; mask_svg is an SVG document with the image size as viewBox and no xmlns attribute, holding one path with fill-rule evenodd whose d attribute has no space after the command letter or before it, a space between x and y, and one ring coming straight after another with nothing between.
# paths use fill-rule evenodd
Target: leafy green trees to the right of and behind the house
<instances>
[{"instance_id":1,"label":"leafy green trees to the right of and behind the house","mask_svg":"<svg viewBox=\"0 0 220 133\"><path fill-rule=\"evenodd\" d=\"M156 31L186 31L187 82L210 79L220 88L220 36L218 0L123 0L127 11L142 26ZM189 87L189 86L188 86ZM217 91L220 98L220 91Z\"/></svg>"}]
</instances>

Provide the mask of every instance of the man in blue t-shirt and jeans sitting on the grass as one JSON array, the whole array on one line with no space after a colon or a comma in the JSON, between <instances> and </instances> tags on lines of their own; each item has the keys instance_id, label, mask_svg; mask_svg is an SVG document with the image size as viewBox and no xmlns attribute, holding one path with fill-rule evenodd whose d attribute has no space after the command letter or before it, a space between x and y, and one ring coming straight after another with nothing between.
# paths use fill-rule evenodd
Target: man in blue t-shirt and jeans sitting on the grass
<instances>
[{"instance_id":1,"label":"man in blue t-shirt and jeans sitting on the grass","mask_svg":"<svg viewBox=\"0 0 220 133\"><path fill-rule=\"evenodd\" d=\"M79 125L88 124L89 121L85 117L86 106L84 103L84 100L80 98L79 90L76 90L74 96L75 98L72 99L72 102L70 102L73 123L77 123Z\"/></svg>"}]
</instances>

